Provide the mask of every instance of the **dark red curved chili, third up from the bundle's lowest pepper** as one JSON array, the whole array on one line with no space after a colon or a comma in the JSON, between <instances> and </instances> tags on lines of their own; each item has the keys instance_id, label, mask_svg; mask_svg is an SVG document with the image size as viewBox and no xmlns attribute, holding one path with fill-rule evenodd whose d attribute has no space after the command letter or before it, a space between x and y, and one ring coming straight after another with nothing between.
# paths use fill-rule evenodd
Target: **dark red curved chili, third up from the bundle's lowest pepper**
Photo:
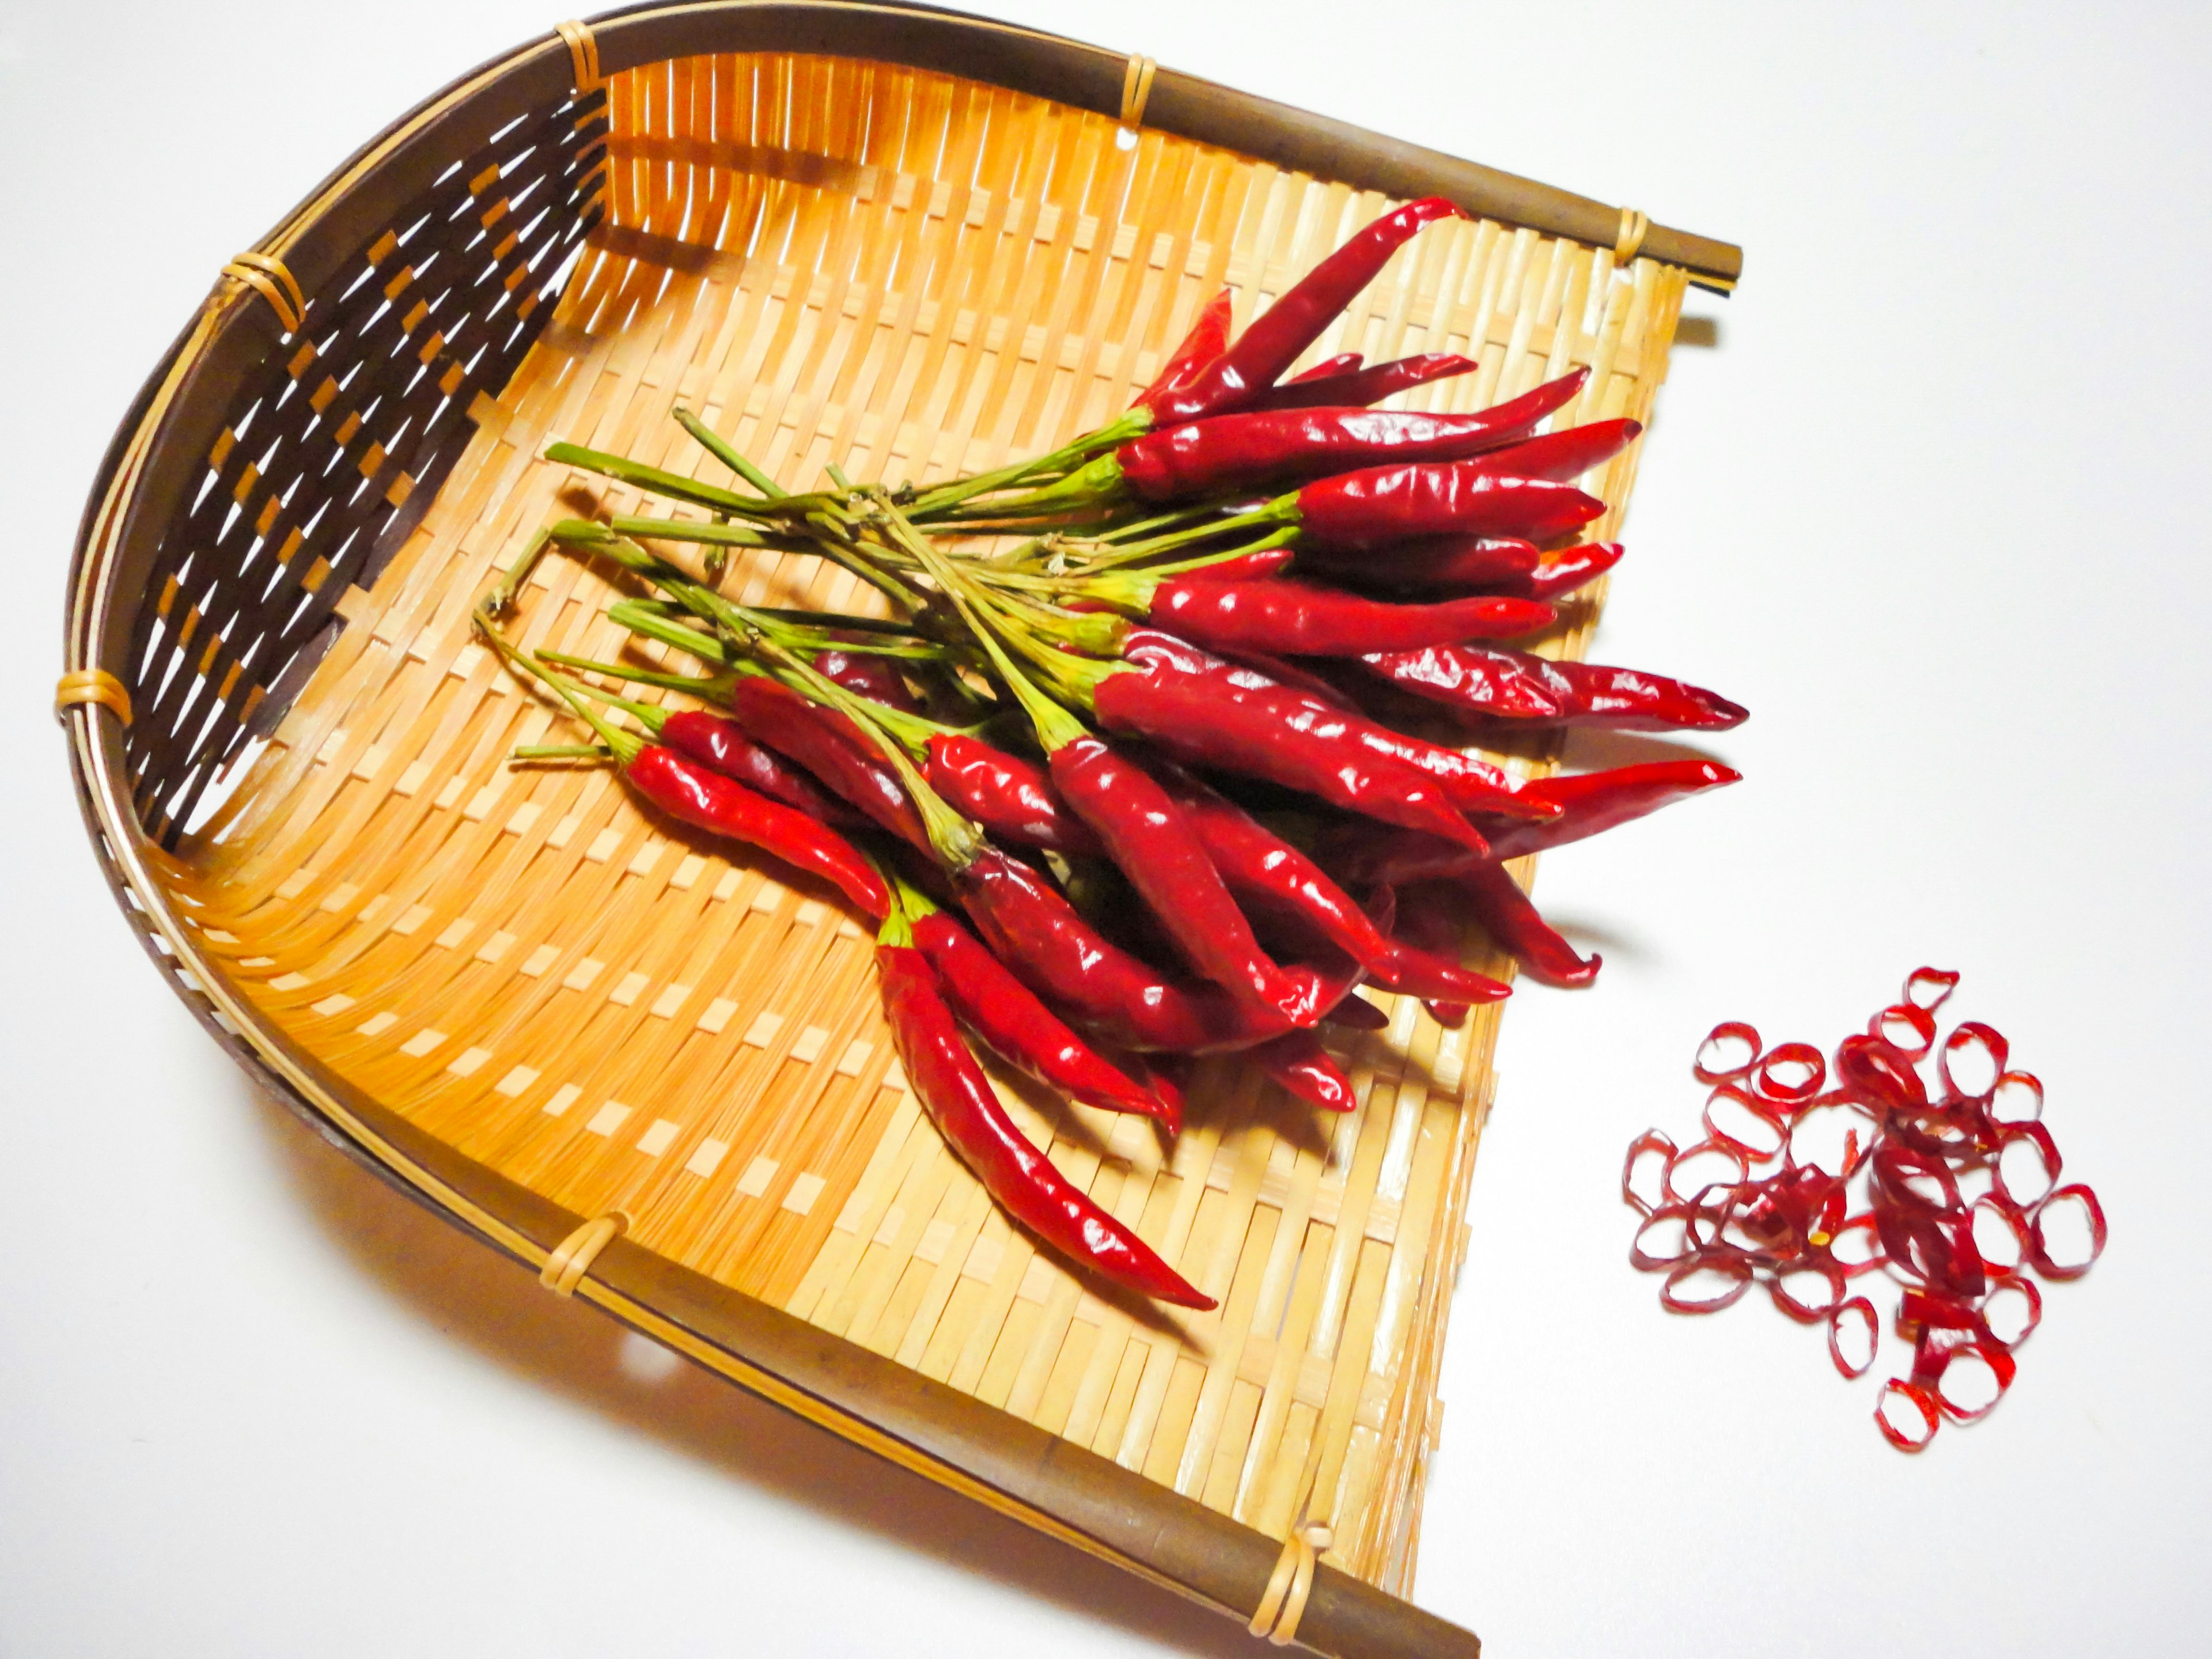
<instances>
[{"instance_id":1,"label":"dark red curved chili, third up from the bundle's lowest pepper","mask_svg":"<svg viewBox=\"0 0 2212 1659\"><path fill-rule=\"evenodd\" d=\"M1135 1051L1219 1053L1250 1048L1283 1031L1212 984L1177 982L1102 936L1029 865L984 852L958 876L975 929L1033 991L1075 1024ZM1325 980L1285 969L1307 991L1301 1024L1349 995L1354 978ZM1310 1011L1310 1013L1307 1013Z\"/></svg>"}]
</instances>

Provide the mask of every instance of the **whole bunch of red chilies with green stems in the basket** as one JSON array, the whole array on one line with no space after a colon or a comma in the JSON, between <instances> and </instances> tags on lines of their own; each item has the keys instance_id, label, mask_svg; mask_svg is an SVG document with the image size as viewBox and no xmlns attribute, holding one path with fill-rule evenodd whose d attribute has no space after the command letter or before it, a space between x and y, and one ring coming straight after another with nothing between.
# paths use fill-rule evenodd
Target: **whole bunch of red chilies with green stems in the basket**
<instances>
[{"instance_id":1,"label":"whole bunch of red chilies with green stems in the basket","mask_svg":"<svg viewBox=\"0 0 2212 1659\"><path fill-rule=\"evenodd\" d=\"M1595 975L1500 860L1736 779L1661 761L1528 781L1420 730L1743 719L1674 679L1509 644L1619 560L1575 542L1604 513L1575 480L1637 422L1537 431L1582 372L1471 416L1371 407L1475 367L1460 356L1283 378L1453 215L1385 215L1234 343L1221 294L1126 416L989 473L887 489L832 467L832 487L792 493L681 409L741 487L553 445L695 511L555 524L478 611L599 737L518 754L613 759L661 812L838 887L880 925L891 1029L945 1137L1031 1232L1146 1296L1212 1305L1020 1137L960 1026L1168 1133L1201 1053L1248 1051L1349 1110L1316 1026L1383 1024L1360 984L1444 1022L1506 995L1460 964L1460 920L1537 978ZM637 577L608 615L706 672L504 639L495 617L546 546ZM732 549L825 557L887 615L737 604L719 591Z\"/></svg>"}]
</instances>

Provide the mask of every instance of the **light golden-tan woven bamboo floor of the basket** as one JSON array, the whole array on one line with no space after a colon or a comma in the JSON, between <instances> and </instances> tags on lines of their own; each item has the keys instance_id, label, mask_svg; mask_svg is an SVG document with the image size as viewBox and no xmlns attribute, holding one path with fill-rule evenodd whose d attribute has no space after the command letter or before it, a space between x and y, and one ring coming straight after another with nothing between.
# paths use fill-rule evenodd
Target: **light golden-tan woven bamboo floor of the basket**
<instances>
[{"instance_id":1,"label":"light golden-tan woven bamboo floor of the basket","mask_svg":"<svg viewBox=\"0 0 2212 1659\"><path fill-rule=\"evenodd\" d=\"M606 774L507 765L562 721L467 628L533 529L633 509L535 460L551 438L723 482L666 418L684 403L787 484L825 462L987 467L1121 409L1219 285L1243 321L1389 204L854 60L655 64L608 82L606 117L606 217L557 307L478 389L429 509L380 531L380 575L363 586L367 553L352 577L334 564L343 630L177 841L170 896L296 1044L469 1157L577 1214L622 1210L630 1241L1272 1535L1301 1509L1327 1520L1332 1564L1402 1593L1498 1011L1447 1033L1385 1000L1389 1029L1340 1048L1363 1099L1343 1119L1208 1062L1166 1152L1133 1119L1009 1091L1055 1161L1223 1307L1104 1301L920 1115L869 938ZM1564 425L1648 418L1681 292L1681 272L1615 270L1604 248L1447 226L1314 354L1480 356L1416 394L1453 409L1590 365ZM1635 453L1593 480L1599 535ZM230 460L210 460L217 482ZM179 526L179 568L228 568L217 520ZM801 560L734 564L726 586L860 602ZM518 630L608 657L611 597L546 560ZM1595 599L1575 606L1546 648L1579 655L1593 619ZM192 765L239 741L210 737ZM197 790L192 765L164 779Z\"/></svg>"}]
</instances>

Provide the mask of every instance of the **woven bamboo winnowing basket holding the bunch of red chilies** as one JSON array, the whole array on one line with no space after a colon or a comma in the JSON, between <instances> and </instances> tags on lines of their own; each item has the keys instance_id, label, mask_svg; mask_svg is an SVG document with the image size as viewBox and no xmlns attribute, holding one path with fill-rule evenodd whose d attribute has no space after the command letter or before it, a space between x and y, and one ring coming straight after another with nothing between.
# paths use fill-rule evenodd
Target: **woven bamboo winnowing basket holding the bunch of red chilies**
<instances>
[{"instance_id":1,"label":"woven bamboo winnowing basket holding the bunch of red chilies","mask_svg":"<svg viewBox=\"0 0 2212 1659\"><path fill-rule=\"evenodd\" d=\"M989 467L1121 409L1219 285L1243 321L1427 192L1482 217L1416 239L1316 354L1480 356L1431 407L1588 365L1566 420L1648 418L1683 285L1739 270L942 11L641 7L487 64L226 268L106 456L60 703L119 902L250 1073L553 1290L1254 1632L1473 1655L1396 1597L1498 1011L1442 1031L1385 1000L1332 1124L1234 1062L1172 1148L1011 1091L1223 1307L1110 1301L918 1113L869 938L604 774L507 768L553 712L467 626L580 491L630 509L540 462L551 438L719 476L686 403L785 482ZM852 602L830 575L726 582ZM608 597L549 560L524 637L608 655ZM1579 655L1595 608L1546 648Z\"/></svg>"}]
</instances>

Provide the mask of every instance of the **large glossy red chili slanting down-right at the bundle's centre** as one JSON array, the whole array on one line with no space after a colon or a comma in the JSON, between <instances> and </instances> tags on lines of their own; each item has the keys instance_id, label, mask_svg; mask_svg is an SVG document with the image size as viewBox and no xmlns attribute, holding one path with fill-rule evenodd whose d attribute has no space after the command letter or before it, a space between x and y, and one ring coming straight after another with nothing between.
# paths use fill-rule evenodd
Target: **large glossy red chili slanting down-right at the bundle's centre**
<instances>
[{"instance_id":1,"label":"large glossy red chili slanting down-right at the bundle's centre","mask_svg":"<svg viewBox=\"0 0 2212 1659\"><path fill-rule=\"evenodd\" d=\"M1099 681L1093 708L1108 730L1150 737L1181 761L1270 779L1447 841L1482 841L1433 779L1367 745L1369 721L1279 686L1243 686L1221 670L1128 668Z\"/></svg>"}]
</instances>

